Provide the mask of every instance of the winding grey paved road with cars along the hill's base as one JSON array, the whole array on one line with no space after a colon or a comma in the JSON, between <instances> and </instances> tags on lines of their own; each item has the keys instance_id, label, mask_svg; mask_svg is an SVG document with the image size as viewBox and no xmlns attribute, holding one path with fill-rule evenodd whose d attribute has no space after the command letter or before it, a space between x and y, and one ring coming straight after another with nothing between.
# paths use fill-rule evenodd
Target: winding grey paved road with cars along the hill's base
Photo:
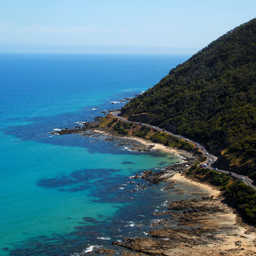
<instances>
[{"instance_id":1,"label":"winding grey paved road with cars along the hill's base","mask_svg":"<svg viewBox=\"0 0 256 256\"><path fill-rule=\"evenodd\" d=\"M120 111L111 112L111 114L112 114L113 116L119 118L120 120L122 120L122 121L124 121L124 122L131 123L131 121L128 121L128 120L125 119L124 117L119 116L120 113L121 113ZM184 137L181 137L181 136L178 135L178 134L174 134L174 133L172 133L172 132L166 132L166 131L163 130L162 128L159 128L159 127L156 127L156 126L153 126L153 125L143 124L143 123L137 123L137 122L133 122L133 123L135 123L135 124L140 124L141 126L144 126L144 125L150 126L150 127L152 127L153 129L155 129L155 130L165 132L165 133L167 133L167 134L169 134L169 135L172 135L173 137L179 138L179 139L181 139L181 140L187 140L188 142L190 142L190 143L196 145L196 147L199 148L199 149L203 152L203 154L204 154L205 156L207 156L207 161L205 161L204 164L207 164L207 167L208 167L209 169L213 170L214 168L217 168L217 167L214 165L214 163L216 162L216 160L218 159L218 157L217 157L217 156L213 156L212 154L210 154L210 153L207 151L207 149L204 147L203 144L200 144L200 143L198 143L198 142L196 142L196 141L194 141L194 140L188 140L188 139L186 139L186 138L184 138ZM218 172L224 172L224 173L229 173L229 172L231 172L230 170L229 170L229 171L217 170L217 171L218 171ZM234 178L237 178L237 179L244 178L243 182L244 182L246 185L251 186L252 188L254 188L254 189L256 190L256 186L254 185L254 183L252 182L252 180L250 180L250 179L247 178L246 176L239 175L239 174L236 174L236 173L233 173L231 176L234 177Z\"/></svg>"}]
</instances>

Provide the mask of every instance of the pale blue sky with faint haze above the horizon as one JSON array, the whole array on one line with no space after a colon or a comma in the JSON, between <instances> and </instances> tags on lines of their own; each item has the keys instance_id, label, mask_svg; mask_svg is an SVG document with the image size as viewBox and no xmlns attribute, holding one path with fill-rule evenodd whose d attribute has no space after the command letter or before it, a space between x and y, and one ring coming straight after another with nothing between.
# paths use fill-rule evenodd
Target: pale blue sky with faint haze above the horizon
<instances>
[{"instance_id":1,"label":"pale blue sky with faint haze above the horizon","mask_svg":"<svg viewBox=\"0 0 256 256\"><path fill-rule=\"evenodd\" d=\"M193 54L255 16L255 0L8 0L0 52Z\"/></svg>"}]
</instances>

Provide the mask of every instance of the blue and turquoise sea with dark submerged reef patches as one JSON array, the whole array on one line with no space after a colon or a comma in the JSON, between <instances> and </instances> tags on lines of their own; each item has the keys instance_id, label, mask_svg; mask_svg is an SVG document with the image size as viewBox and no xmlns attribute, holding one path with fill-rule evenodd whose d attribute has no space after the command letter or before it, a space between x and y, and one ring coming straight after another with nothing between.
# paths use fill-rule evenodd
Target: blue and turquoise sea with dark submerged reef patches
<instances>
[{"instance_id":1,"label":"blue and turquoise sea with dark submerged reef patches","mask_svg":"<svg viewBox=\"0 0 256 256\"><path fill-rule=\"evenodd\" d=\"M121 108L189 57L0 54L0 256L79 255L143 236L167 193L161 184L130 193L147 182L129 176L180 158L128 151L105 135L51 132Z\"/></svg>"}]
</instances>

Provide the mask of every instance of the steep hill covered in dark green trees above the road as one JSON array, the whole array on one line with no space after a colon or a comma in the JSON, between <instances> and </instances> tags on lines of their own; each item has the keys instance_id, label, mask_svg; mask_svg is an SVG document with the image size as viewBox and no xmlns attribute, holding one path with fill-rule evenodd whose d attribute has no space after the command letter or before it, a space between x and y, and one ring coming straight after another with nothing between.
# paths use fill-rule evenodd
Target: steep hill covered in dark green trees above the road
<instances>
[{"instance_id":1,"label":"steep hill covered in dark green trees above the road","mask_svg":"<svg viewBox=\"0 0 256 256\"><path fill-rule=\"evenodd\" d=\"M255 176L256 19L234 28L132 99L121 116L193 138L219 168Z\"/></svg>"}]
</instances>

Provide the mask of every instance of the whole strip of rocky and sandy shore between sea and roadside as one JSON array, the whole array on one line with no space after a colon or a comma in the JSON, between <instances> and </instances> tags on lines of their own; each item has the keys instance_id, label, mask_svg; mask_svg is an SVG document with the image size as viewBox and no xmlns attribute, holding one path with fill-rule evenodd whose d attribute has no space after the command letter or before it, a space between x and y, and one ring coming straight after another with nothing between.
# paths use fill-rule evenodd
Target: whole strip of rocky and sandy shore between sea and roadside
<instances>
[{"instance_id":1,"label":"whole strip of rocky and sandy shore between sea and roadside","mask_svg":"<svg viewBox=\"0 0 256 256\"><path fill-rule=\"evenodd\" d=\"M168 211L154 212L152 215L162 216L162 220L149 223L148 229L143 230L147 237L123 237L109 244L108 248L97 250L92 248L91 254L103 253L107 255L252 255L256 254L256 229L244 223L235 211L228 206L220 187L207 182L200 183L199 179L188 175L193 166L204 160L204 156L191 145L176 147L164 146L164 135L159 132L146 130L137 124L123 129L117 125L117 120L107 115L99 122L84 123L83 127L63 129L56 133L82 133L81 136L90 136L95 133L105 133L111 136L128 137L138 143L133 143L131 150L150 151L161 150L166 153L183 156L184 163L175 164L164 170L154 173L146 171L133 179L146 179L151 188L160 182L165 182L164 189L179 191L188 194L187 200L168 200ZM126 124L125 124L126 125ZM133 135L140 134L138 138ZM150 141L153 138L155 141ZM124 142L125 143L125 142ZM192 179L192 180L191 180ZM199 182L200 181L200 182ZM199 192L190 193L191 187L200 188ZM141 188L143 189L143 188ZM200 196L202 195L202 196ZM85 255L88 251L81 252Z\"/></svg>"}]
</instances>

